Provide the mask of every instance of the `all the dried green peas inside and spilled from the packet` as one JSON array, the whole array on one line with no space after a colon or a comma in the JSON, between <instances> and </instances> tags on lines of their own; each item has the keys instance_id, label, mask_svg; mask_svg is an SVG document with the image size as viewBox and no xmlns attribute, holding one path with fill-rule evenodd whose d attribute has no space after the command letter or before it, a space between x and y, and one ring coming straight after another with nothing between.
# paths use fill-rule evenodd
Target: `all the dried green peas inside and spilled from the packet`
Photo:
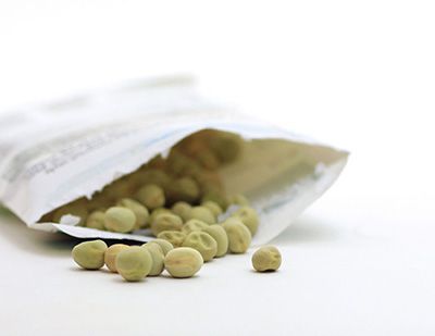
<instances>
[{"instance_id":1,"label":"all the dried green peas inside and spilled from the packet","mask_svg":"<svg viewBox=\"0 0 435 336\"><path fill-rule=\"evenodd\" d=\"M177 278L194 276L204 262L228 252L245 253L258 231L257 211L244 195L227 196L219 174L243 149L237 135L198 132L175 145L167 158L154 157L91 199L58 208L44 221L60 222L72 214L79 219L77 225L89 228L123 234L145 229L157 237L142 246L82 242L73 249L73 258L84 269L98 270L105 263L127 282L158 276L164 270ZM276 251L260 249L252 257L253 267L276 270L281 264Z\"/></svg>"}]
</instances>

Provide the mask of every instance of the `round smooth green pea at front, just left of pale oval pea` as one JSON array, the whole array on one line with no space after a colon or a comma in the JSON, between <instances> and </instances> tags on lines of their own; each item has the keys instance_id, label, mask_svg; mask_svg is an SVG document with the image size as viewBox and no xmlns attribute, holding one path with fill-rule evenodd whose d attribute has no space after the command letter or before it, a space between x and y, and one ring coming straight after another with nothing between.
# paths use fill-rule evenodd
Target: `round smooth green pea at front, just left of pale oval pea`
<instances>
[{"instance_id":1,"label":"round smooth green pea at front, just left of pale oval pea","mask_svg":"<svg viewBox=\"0 0 435 336\"><path fill-rule=\"evenodd\" d=\"M117 253L115 264L117 273L127 282L138 282L150 273L152 258L147 249L132 246Z\"/></svg>"}]
</instances>

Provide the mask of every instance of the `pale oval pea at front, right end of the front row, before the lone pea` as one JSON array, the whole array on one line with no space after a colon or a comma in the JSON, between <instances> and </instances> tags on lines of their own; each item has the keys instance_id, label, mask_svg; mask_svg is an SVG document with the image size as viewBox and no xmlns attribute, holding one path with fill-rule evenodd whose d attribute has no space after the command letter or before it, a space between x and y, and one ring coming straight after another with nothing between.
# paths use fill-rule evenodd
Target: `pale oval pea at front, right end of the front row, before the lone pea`
<instances>
[{"instance_id":1,"label":"pale oval pea at front, right end of the front row, before the lone pea","mask_svg":"<svg viewBox=\"0 0 435 336\"><path fill-rule=\"evenodd\" d=\"M188 247L175 248L164 258L164 266L173 277L194 276L202 264L201 254Z\"/></svg>"}]
</instances>

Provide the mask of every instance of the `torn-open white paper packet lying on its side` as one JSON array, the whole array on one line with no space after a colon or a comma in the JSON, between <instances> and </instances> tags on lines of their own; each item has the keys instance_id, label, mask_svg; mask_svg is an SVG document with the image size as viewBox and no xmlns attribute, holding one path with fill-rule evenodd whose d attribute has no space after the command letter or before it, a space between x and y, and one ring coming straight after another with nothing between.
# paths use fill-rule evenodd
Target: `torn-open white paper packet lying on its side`
<instances>
[{"instance_id":1,"label":"torn-open white paper packet lying on its side","mask_svg":"<svg viewBox=\"0 0 435 336\"><path fill-rule=\"evenodd\" d=\"M148 241L41 223L44 214L129 174L201 129L235 133L243 155L220 170L228 195L245 194L260 214L253 244L283 232L338 177L348 152L211 102L185 77L136 82L0 114L0 201L28 227L79 238Z\"/></svg>"}]
</instances>

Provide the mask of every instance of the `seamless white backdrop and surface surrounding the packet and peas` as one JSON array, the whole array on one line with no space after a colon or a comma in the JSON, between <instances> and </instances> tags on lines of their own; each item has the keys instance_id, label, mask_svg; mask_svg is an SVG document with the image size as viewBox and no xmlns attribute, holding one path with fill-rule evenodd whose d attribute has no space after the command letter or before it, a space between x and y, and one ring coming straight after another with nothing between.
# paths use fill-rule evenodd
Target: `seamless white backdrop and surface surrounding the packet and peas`
<instances>
[{"instance_id":1,"label":"seamless white backdrop and surface surrounding the packet and peas","mask_svg":"<svg viewBox=\"0 0 435 336\"><path fill-rule=\"evenodd\" d=\"M77 271L0 220L4 335L434 335L433 1L0 0L0 110L156 74L349 149L275 244L188 281Z\"/></svg>"}]
</instances>

